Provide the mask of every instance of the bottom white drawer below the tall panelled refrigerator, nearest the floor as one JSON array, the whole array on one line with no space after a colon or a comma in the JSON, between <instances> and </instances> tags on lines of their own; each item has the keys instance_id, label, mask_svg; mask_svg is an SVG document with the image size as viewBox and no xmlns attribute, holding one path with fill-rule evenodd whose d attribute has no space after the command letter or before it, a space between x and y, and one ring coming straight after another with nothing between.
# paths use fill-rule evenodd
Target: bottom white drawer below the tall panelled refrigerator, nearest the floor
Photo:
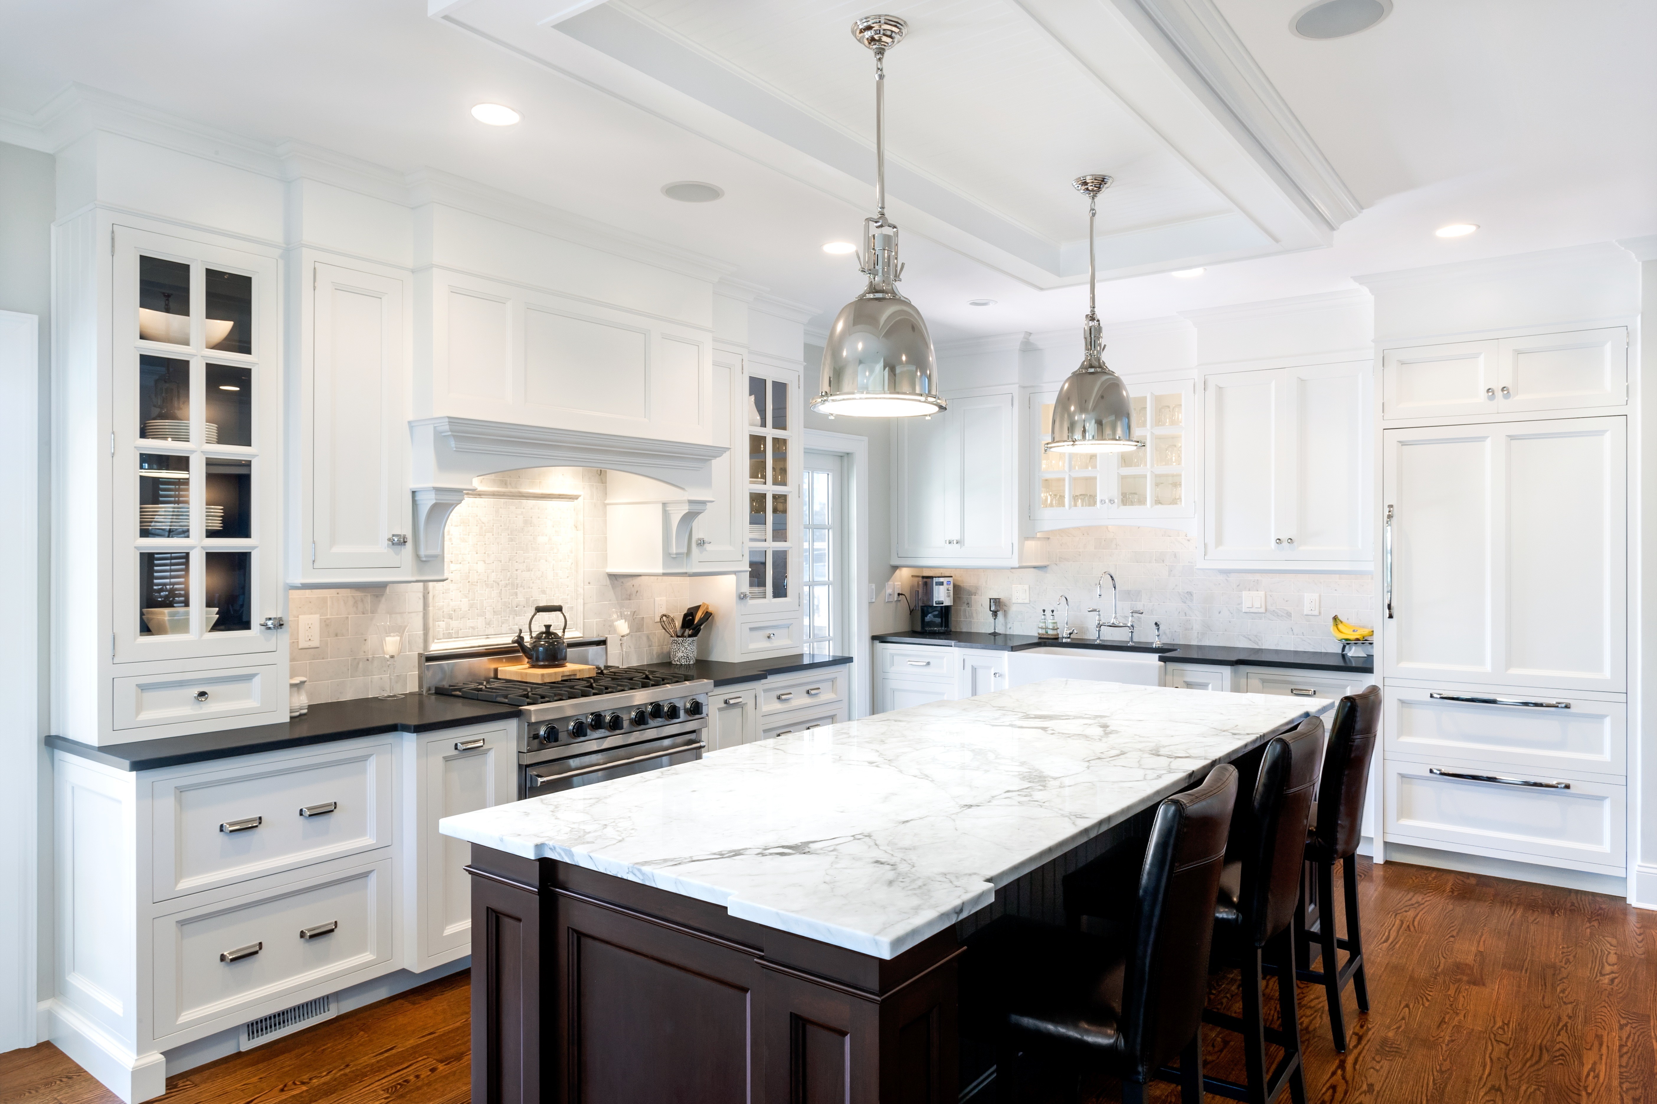
<instances>
[{"instance_id":1,"label":"bottom white drawer below the tall panelled refrigerator, nearest the floor","mask_svg":"<svg viewBox=\"0 0 1657 1104\"><path fill-rule=\"evenodd\" d=\"M1581 775L1481 771L1394 755L1385 765L1387 839L1392 842L1624 874L1626 786Z\"/></svg>"}]
</instances>

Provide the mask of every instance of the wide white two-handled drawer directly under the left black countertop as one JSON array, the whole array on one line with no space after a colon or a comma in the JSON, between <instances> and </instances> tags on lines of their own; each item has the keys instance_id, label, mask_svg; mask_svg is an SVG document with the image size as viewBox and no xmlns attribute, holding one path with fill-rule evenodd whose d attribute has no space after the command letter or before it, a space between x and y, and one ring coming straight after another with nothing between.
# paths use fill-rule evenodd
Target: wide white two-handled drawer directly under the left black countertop
<instances>
[{"instance_id":1,"label":"wide white two-handled drawer directly under the left black countertop","mask_svg":"<svg viewBox=\"0 0 1657 1104\"><path fill-rule=\"evenodd\" d=\"M391 842L389 738L237 763L149 783L154 900Z\"/></svg>"}]
</instances>

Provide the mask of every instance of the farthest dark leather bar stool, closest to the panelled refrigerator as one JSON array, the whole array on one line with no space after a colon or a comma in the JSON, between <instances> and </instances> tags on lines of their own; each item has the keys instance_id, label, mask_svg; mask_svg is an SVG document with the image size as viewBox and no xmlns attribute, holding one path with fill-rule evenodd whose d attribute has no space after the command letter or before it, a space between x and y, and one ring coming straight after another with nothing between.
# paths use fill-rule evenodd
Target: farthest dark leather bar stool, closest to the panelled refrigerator
<instances>
[{"instance_id":1,"label":"farthest dark leather bar stool, closest to the panelled refrigerator","mask_svg":"<svg viewBox=\"0 0 1657 1104\"><path fill-rule=\"evenodd\" d=\"M1324 771L1317 781L1317 803L1312 806L1312 826L1306 833L1306 862L1314 871L1317 884L1317 915L1307 924L1307 904L1302 899L1296 910L1294 942L1301 948L1306 968L1296 977L1324 986L1329 1003L1329 1030L1336 1036L1336 1049L1345 1054L1345 1016L1341 1011L1341 993L1347 983L1357 993L1359 1011L1369 1011L1369 986L1364 983L1364 935L1357 917L1357 841L1364 829L1364 796L1369 793L1369 763L1375 756L1375 733L1380 730L1380 687L1344 697L1336 703L1336 718L1329 725L1329 746L1324 751ZM1336 862L1342 869L1345 889L1345 938L1336 935ZM1339 963L1337 952L1347 952ZM1312 962L1322 960L1321 970Z\"/></svg>"}]
</instances>

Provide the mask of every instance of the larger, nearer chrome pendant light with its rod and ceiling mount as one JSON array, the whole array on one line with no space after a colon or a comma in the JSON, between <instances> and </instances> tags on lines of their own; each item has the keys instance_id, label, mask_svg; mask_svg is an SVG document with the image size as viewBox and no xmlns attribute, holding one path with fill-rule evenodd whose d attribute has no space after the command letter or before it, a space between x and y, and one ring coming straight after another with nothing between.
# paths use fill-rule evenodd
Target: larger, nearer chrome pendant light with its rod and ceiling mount
<instances>
[{"instance_id":1,"label":"larger, nearer chrome pendant light with its rod and ceiling mount","mask_svg":"<svg viewBox=\"0 0 1657 1104\"><path fill-rule=\"evenodd\" d=\"M913 417L946 409L938 397L938 358L926 319L893 286L903 278L898 227L886 218L886 50L908 23L865 15L852 36L875 51L875 217L863 220L857 268L863 293L840 308L824 346L822 389L812 409L853 417Z\"/></svg>"}]
</instances>

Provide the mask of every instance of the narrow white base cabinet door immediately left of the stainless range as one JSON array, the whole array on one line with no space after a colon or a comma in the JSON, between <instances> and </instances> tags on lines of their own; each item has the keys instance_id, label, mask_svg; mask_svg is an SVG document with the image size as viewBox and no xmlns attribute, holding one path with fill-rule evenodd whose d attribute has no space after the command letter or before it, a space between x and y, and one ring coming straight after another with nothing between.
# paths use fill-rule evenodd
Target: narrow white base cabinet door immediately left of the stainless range
<instances>
[{"instance_id":1,"label":"narrow white base cabinet door immediately left of the stainless range","mask_svg":"<svg viewBox=\"0 0 1657 1104\"><path fill-rule=\"evenodd\" d=\"M419 973L472 952L471 846L437 821L517 801L519 722L403 735L403 968Z\"/></svg>"}]
</instances>

